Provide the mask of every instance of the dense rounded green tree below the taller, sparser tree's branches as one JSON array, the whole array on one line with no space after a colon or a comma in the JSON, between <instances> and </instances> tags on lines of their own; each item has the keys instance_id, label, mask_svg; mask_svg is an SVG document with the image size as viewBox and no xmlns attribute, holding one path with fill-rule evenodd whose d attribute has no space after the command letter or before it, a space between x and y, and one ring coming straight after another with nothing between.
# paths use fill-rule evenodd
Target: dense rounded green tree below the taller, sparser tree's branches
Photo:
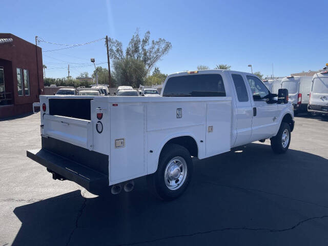
<instances>
[{"instance_id":1,"label":"dense rounded green tree below the taller, sparser tree's branches","mask_svg":"<svg viewBox=\"0 0 328 246\"><path fill-rule=\"evenodd\" d=\"M113 62L113 77L117 85L132 86L138 88L144 84L147 75L145 64L140 59L126 57Z\"/></svg>"}]
</instances>

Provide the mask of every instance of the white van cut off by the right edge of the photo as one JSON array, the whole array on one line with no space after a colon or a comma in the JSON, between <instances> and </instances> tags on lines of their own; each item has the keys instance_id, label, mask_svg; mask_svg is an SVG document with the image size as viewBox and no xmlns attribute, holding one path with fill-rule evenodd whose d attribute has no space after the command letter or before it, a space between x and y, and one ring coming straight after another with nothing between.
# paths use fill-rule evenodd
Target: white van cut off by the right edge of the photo
<instances>
[{"instance_id":1,"label":"white van cut off by the right edge of the photo","mask_svg":"<svg viewBox=\"0 0 328 246\"><path fill-rule=\"evenodd\" d=\"M328 116L328 71L313 75L308 111Z\"/></svg>"}]
</instances>

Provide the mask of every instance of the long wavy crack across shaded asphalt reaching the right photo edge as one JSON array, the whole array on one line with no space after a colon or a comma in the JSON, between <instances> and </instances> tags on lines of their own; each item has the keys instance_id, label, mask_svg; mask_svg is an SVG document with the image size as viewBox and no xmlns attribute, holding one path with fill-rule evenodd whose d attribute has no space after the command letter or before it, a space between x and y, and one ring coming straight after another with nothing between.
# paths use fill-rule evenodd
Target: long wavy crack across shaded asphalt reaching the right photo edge
<instances>
[{"instance_id":1,"label":"long wavy crack across shaded asphalt reaching the right photo edge","mask_svg":"<svg viewBox=\"0 0 328 246\"><path fill-rule=\"evenodd\" d=\"M112 246L118 246L118 245L136 245L136 244L140 244L140 243L157 242L157 241L160 241L160 240L166 240L166 239L172 239L172 238L179 238L179 237L191 237L191 236L195 236L195 235L202 235L202 234L209 234L209 233L213 233L213 232L223 232L223 231L245 230L245 231L266 231L266 232L279 233L279 232L285 232L285 231L293 230L293 229L299 227L302 223L308 222L310 220L323 219L323 218L327 218L327 217L328 217L328 215L323 215L323 216L320 216L320 217L307 218L307 219L304 219L304 220L299 221L294 226L289 227L289 228L285 228L285 229L248 228L248 227L221 228L221 229L214 229L214 230L209 230L209 231L195 232L195 233L190 233L190 234L180 234L180 235L174 235L174 236L168 236L168 237L161 237L161 238L156 238L156 239L148 240L148 241L139 241L139 242L132 242L132 243L112 244Z\"/></svg>"}]
</instances>

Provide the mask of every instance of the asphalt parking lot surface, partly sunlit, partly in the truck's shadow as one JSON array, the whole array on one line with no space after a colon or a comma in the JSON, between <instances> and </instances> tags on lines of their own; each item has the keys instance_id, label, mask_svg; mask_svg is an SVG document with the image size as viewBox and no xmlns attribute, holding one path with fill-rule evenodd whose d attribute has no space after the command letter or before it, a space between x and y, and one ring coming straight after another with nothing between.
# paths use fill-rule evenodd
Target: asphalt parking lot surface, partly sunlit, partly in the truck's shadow
<instances>
[{"instance_id":1,"label":"asphalt parking lot surface, partly sunlit, partly in the truck's shadow","mask_svg":"<svg viewBox=\"0 0 328 246\"><path fill-rule=\"evenodd\" d=\"M39 114L0 121L0 245L327 245L328 121L295 117L290 150L270 140L194 160L189 189L95 196L26 157ZM96 161L96 160L95 160Z\"/></svg>"}]
</instances>

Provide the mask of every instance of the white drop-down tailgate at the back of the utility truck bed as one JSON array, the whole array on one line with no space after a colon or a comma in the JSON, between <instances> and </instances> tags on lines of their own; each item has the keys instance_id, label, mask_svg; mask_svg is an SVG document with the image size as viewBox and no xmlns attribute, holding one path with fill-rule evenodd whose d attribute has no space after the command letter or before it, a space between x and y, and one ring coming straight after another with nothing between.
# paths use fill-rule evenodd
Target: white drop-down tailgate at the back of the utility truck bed
<instances>
[{"instance_id":1,"label":"white drop-down tailgate at the back of the utility truck bed","mask_svg":"<svg viewBox=\"0 0 328 246\"><path fill-rule=\"evenodd\" d=\"M92 125L91 120L45 114L42 135L92 150Z\"/></svg>"}]
</instances>

